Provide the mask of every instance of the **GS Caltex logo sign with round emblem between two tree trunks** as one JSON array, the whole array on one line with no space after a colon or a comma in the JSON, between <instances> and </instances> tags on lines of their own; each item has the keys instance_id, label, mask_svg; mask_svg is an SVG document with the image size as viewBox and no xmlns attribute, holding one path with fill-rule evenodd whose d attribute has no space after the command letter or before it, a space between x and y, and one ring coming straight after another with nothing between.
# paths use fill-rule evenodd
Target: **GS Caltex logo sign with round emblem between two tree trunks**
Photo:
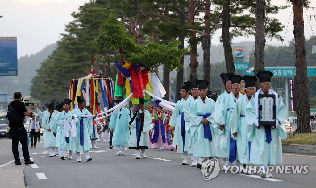
<instances>
[{"instance_id":1,"label":"GS Caltex logo sign with round emblem between two tree trunks","mask_svg":"<svg viewBox=\"0 0 316 188\"><path fill-rule=\"evenodd\" d=\"M249 48L248 46L232 46L235 70L249 69Z\"/></svg>"}]
</instances>

